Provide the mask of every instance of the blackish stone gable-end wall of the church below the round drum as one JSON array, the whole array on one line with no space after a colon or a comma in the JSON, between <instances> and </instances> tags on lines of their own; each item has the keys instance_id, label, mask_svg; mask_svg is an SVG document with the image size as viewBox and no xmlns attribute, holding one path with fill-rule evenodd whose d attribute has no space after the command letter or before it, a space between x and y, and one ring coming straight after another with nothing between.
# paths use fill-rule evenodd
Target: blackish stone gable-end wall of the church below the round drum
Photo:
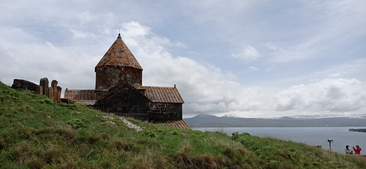
<instances>
[{"instance_id":1,"label":"blackish stone gable-end wall of the church below the round drum","mask_svg":"<svg viewBox=\"0 0 366 169\"><path fill-rule=\"evenodd\" d=\"M127 116L138 120L150 121L150 104L142 94L126 87L117 93L102 98L96 105L102 112L114 113L117 116Z\"/></svg>"}]
</instances>

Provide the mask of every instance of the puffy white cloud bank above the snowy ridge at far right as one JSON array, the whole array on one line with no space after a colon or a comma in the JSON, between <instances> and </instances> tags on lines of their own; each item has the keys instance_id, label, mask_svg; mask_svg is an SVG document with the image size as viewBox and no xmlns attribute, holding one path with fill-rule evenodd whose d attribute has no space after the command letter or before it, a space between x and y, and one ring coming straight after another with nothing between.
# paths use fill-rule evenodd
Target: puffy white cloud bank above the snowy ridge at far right
<instances>
[{"instance_id":1,"label":"puffy white cloud bank above the snowy ridge at far right","mask_svg":"<svg viewBox=\"0 0 366 169\"><path fill-rule=\"evenodd\" d=\"M366 85L356 79L327 78L292 86L275 95L277 111L362 112L366 108Z\"/></svg>"}]
</instances>

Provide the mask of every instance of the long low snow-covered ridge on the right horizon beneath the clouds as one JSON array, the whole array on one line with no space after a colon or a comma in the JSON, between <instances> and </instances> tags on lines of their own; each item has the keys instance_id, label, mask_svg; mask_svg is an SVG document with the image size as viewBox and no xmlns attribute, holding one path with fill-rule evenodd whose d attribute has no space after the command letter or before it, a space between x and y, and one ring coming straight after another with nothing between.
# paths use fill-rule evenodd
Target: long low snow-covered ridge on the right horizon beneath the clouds
<instances>
[{"instance_id":1,"label":"long low snow-covered ridge on the right horizon beneath the clouds","mask_svg":"<svg viewBox=\"0 0 366 169\"><path fill-rule=\"evenodd\" d=\"M331 118L331 117L350 117L350 118L361 118L366 119L366 113L363 114L354 114L354 113L339 113L339 114L330 114L330 113L314 113L314 114L293 114L286 116L270 116L270 117L256 117L261 119L281 119L283 117L288 117L291 119L322 119L322 118Z\"/></svg>"}]
</instances>

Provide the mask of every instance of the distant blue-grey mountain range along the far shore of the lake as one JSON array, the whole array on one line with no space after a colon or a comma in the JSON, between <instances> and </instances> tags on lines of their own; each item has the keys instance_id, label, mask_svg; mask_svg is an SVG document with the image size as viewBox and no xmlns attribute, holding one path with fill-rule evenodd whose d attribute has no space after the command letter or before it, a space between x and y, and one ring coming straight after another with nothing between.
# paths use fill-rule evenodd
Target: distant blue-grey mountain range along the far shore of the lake
<instances>
[{"instance_id":1,"label":"distant blue-grey mountain range along the far shore of the lake","mask_svg":"<svg viewBox=\"0 0 366 169\"><path fill-rule=\"evenodd\" d=\"M324 116L323 116L324 117ZM273 118L273 117L271 117ZM277 119L242 118L235 115L217 117L199 114L183 119L190 127L366 127L366 114L356 117L278 116Z\"/></svg>"}]
</instances>

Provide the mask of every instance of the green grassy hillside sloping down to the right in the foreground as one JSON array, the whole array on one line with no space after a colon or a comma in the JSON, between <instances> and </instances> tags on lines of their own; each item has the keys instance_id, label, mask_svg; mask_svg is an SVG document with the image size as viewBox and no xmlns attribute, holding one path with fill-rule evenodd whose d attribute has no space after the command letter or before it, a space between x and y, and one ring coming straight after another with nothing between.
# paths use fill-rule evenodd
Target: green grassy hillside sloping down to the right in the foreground
<instances>
[{"instance_id":1,"label":"green grassy hillside sloping down to the right in the foreground","mask_svg":"<svg viewBox=\"0 0 366 169\"><path fill-rule=\"evenodd\" d=\"M0 168L366 167L364 157L295 142L127 120L144 130L126 127L117 116L53 102L0 82Z\"/></svg>"}]
</instances>

